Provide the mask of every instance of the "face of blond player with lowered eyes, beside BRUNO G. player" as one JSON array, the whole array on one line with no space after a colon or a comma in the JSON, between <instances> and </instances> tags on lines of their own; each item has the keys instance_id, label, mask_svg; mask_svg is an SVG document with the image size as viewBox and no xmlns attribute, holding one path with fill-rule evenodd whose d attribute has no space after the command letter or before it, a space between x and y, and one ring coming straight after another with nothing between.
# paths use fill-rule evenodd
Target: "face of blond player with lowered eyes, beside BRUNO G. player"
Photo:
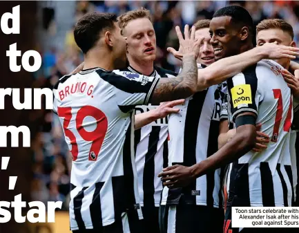
<instances>
[{"instance_id":1,"label":"face of blond player with lowered eyes, beside BRUNO G. player","mask_svg":"<svg viewBox=\"0 0 299 233\"><path fill-rule=\"evenodd\" d=\"M146 18L134 19L124 28L128 38L128 59L150 62L156 57L156 35L153 24Z\"/></svg>"}]
</instances>

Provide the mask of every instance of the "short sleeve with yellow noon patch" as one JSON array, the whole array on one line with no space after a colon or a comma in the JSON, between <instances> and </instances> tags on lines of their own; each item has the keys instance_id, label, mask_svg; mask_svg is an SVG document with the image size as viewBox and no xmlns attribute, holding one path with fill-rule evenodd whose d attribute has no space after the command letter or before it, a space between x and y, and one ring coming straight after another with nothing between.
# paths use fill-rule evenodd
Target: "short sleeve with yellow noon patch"
<instances>
[{"instance_id":1,"label":"short sleeve with yellow noon patch","mask_svg":"<svg viewBox=\"0 0 299 233\"><path fill-rule=\"evenodd\" d=\"M239 73L227 80L228 99L233 122L240 113L258 115L258 78L255 68Z\"/></svg>"}]
</instances>

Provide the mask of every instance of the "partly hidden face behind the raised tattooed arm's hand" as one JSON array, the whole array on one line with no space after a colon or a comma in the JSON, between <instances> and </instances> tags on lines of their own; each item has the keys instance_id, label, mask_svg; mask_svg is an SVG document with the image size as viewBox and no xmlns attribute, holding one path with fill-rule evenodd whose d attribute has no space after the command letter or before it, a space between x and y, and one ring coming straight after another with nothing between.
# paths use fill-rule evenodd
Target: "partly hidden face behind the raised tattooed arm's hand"
<instances>
[{"instance_id":1,"label":"partly hidden face behind the raised tattooed arm's hand","mask_svg":"<svg viewBox=\"0 0 299 233\"><path fill-rule=\"evenodd\" d=\"M204 41L202 41L202 44L200 45L200 55L197 58L197 62L209 66L215 62L214 49L210 42L211 36L209 28L197 30L195 32L195 39L199 37L204 37Z\"/></svg>"}]
</instances>

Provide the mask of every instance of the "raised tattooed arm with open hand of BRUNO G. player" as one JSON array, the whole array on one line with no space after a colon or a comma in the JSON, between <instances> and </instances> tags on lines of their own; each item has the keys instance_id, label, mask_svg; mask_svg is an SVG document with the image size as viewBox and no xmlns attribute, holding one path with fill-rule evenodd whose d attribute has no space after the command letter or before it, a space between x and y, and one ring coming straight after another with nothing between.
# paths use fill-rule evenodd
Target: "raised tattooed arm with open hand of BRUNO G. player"
<instances>
[{"instance_id":1,"label":"raised tattooed arm with open hand of BRUNO G. player","mask_svg":"<svg viewBox=\"0 0 299 233\"><path fill-rule=\"evenodd\" d=\"M204 39L195 40L195 27L189 35L189 26L184 28L184 38L180 28L175 28L182 51L182 72L177 77L161 78L153 91L152 104L178 100L189 97L197 91L197 64L196 59L200 53L200 44Z\"/></svg>"}]
</instances>

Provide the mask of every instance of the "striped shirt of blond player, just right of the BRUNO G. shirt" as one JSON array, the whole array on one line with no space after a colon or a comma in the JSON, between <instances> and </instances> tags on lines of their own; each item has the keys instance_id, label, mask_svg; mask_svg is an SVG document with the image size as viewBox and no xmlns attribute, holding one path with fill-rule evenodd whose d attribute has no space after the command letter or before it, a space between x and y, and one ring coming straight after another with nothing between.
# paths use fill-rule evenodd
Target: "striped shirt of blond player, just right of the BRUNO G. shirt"
<instances>
[{"instance_id":1,"label":"striped shirt of blond player, just right of the BRUNO G. shirt","mask_svg":"<svg viewBox=\"0 0 299 233\"><path fill-rule=\"evenodd\" d=\"M124 71L138 73L128 66ZM140 74L141 75L141 74ZM154 67L151 77L175 77L177 73ZM135 113L144 113L156 108L154 105L139 105ZM157 175L168 161L168 117L156 120L141 129L135 130L135 161L138 175L140 204L147 207L160 205L162 182Z\"/></svg>"}]
</instances>

